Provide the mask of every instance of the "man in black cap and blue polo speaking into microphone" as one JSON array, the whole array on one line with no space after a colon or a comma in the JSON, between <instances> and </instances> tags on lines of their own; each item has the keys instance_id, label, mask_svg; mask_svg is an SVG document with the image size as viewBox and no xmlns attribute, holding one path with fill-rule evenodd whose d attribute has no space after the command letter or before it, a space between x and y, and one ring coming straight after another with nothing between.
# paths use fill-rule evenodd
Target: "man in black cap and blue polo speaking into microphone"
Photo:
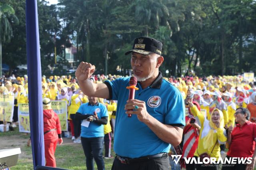
<instances>
[{"instance_id":1,"label":"man in black cap and blue polo speaking into microphone","mask_svg":"<svg viewBox=\"0 0 256 170\"><path fill-rule=\"evenodd\" d=\"M95 66L81 62L76 78L85 95L118 100L112 170L166 170L170 144L177 146L182 140L184 99L159 71L164 61L161 42L136 38L128 54L138 81L134 99L128 100L130 77L96 84L88 79Z\"/></svg>"}]
</instances>

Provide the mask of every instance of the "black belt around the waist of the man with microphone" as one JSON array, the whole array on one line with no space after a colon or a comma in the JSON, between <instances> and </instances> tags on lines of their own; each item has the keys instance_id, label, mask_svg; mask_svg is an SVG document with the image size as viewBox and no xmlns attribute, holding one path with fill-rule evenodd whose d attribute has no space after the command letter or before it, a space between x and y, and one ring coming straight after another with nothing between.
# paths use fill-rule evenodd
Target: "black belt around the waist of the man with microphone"
<instances>
[{"instance_id":1,"label":"black belt around the waist of the man with microphone","mask_svg":"<svg viewBox=\"0 0 256 170\"><path fill-rule=\"evenodd\" d=\"M167 158L168 154L167 153L160 153L160 154L155 154L155 155L149 155L149 156L143 156L140 158L127 158L127 157L120 157L116 155L116 158L120 160L122 164L132 164L132 163L137 163L137 162L144 162L147 160L151 159L157 159L157 158Z\"/></svg>"}]
</instances>

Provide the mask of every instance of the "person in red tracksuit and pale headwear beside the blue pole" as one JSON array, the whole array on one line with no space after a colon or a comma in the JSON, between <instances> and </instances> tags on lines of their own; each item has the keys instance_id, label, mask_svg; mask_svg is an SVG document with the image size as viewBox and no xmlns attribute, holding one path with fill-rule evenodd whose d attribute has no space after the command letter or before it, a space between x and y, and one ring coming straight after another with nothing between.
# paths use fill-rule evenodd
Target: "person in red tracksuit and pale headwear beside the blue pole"
<instances>
[{"instance_id":1,"label":"person in red tracksuit and pale headwear beside the blue pole","mask_svg":"<svg viewBox=\"0 0 256 170\"><path fill-rule=\"evenodd\" d=\"M54 153L57 143L62 144L60 119L52 110L51 101L48 98L43 99L44 114L44 154L46 166L56 167Z\"/></svg>"}]
</instances>

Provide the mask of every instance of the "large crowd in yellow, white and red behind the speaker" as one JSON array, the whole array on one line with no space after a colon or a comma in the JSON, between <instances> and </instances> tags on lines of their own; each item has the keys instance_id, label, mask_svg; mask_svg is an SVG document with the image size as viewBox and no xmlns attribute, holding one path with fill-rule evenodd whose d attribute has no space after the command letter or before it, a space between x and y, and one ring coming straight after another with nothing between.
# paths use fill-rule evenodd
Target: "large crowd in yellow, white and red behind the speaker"
<instances>
[{"instance_id":1,"label":"large crowd in yellow, white and red behind the speaker","mask_svg":"<svg viewBox=\"0 0 256 170\"><path fill-rule=\"evenodd\" d=\"M118 79L119 75L92 75L90 80L94 83L102 83L106 80ZM207 154L210 157L219 158L228 148L227 156L255 157L254 138L256 137L256 83L243 80L242 76L182 76L164 77L166 81L177 87L183 95L184 103L188 112L186 115L186 126L183 131L183 140L180 147L172 147L169 154L177 154L179 149L182 157L201 157ZM1 95L14 95L14 115L12 125L18 122L18 104L28 103L28 77L3 77L0 81ZM108 117L107 121L99 121L98 127L104 128L105 155L104 158L112 158L111 140L114 138L115 115L117 101L88 97L79 89L76 78L69 76L42 77L42 97L51 101L61 100L67 102L70 137L75 143L83 140L84 126L81 121L87 119L101 120ZM103 115L95 115L81 119L77 116L78 109L84 103L92 106L101 103L100 110L106 108ZM202 112L202 110L204 112ZM3 116L0 113L0 117ZM101 119L100 119L101 117ZM2 123L2 122L1 122ZM97 121L95 121L97 123ZM104 125L104 126L103 126ZM248 127L246 127L248 126ZM248 132L246 128L252 129ZM82 129L82 132L81 132ZM244 131L241 131L244 129ZM88 130L88 129L86 129ZM102 129L103 130L103 129ZM256 130L256 129L255 129ZM242 135L242 136L241 136ZM245 139L248 139L245 141ZM88 141L87 141L88 142ZM82 141L83 143L83 141ZM84 143L86 143L84 141ZM94 142L95 143L95 142ZM246 143L246 144L245 144ZM83 145L83 147L86 144ZM102 152L102 151L100 151ZM239 153L239 154L238 154ZM92 164L90 153L85 153L87 162ZM94 156L98 158L101 155ZM100 158L96 160L100 167ZM179 168L173 164L172 168ZM180 168L202 169L194 164L180 164ZM239 165L240 167L241 165ZM246 166L246 165L244 165ZM237 169L239 169L239 167ZM214 169L214 168L213 168Z\"/></svg>"}]
</instances>

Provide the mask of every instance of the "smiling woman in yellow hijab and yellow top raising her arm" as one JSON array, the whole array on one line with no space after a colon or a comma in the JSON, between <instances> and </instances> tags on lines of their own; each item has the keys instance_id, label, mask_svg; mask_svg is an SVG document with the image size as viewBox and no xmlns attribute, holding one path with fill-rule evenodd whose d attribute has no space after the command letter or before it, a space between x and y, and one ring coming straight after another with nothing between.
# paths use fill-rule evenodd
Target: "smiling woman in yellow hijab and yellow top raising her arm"
<instances>
[{"instance_id":1,"label":"smiling woman in yellow hijab and yellow top raising her arm","mask_svg":"<svg viewBox=\"0 0 256 170\"><path fill-rule=\"evenodd\" d=\"M222 111L214 109L212 111L210 121L208 121L198 108L195 107L191 100L188 100L191 113L194 114L198 120L198 124L201 127L198 147L194 153L195 157L206 156L214 157L218 160L220 158L220 144L224 144L227 140L226 130L224 129L224 117ZM202 164L196 164L197 170L216 170L218 166L202 166Z\"/></svg>"}]
</instances>

